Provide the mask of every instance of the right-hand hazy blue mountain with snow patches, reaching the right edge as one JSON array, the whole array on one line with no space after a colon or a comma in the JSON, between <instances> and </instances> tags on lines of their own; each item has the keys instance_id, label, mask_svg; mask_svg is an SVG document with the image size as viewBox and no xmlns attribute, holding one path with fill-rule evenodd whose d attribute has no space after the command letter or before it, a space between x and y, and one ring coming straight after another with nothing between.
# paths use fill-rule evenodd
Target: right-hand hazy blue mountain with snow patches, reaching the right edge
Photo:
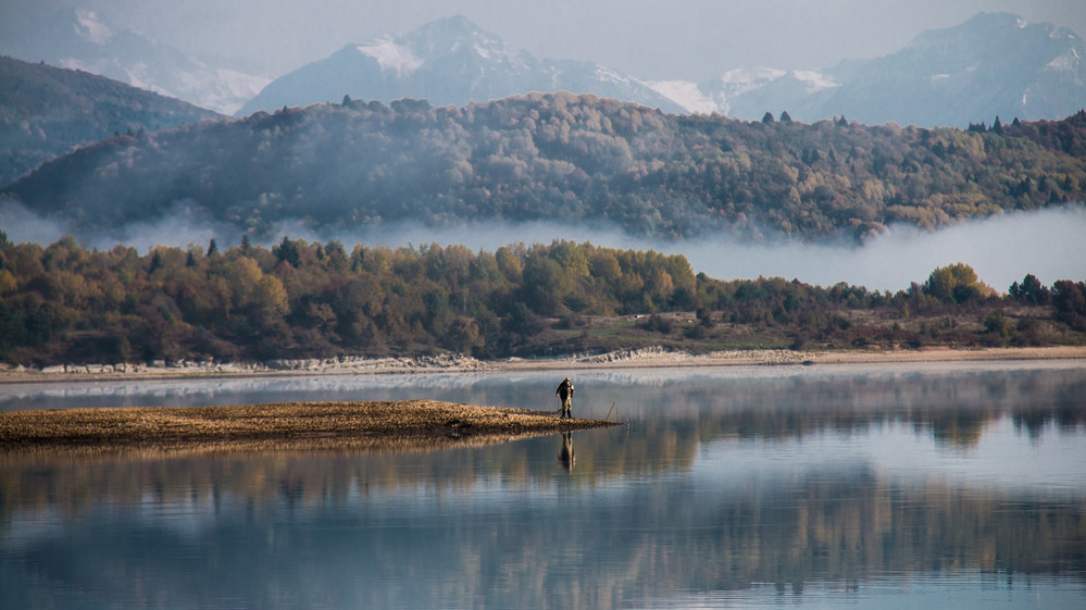
<instances>
[{"instance_id":1,"label":"right-hand hazy blue mountain with snow patches, reaching the right edge","mask_svg":"<svg viewBox=\"0 0 1086 610\"><path fill-rule=\"evenodd\" d=\"M875 125L957 126L1061 119L1086 103L1086 45L1070 29L979 13L927 30L900 51L812 72L737 70L695 85L654 84L690 111L747 120L845 115Z\"/></svg>"}]
</instances>

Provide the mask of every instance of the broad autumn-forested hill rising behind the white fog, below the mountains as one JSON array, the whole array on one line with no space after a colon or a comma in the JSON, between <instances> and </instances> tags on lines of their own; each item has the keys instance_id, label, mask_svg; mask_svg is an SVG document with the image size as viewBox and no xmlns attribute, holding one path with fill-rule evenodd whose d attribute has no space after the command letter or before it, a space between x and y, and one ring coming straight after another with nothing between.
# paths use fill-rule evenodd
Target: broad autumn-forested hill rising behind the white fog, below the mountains
<instances>
[{"instance_id":1,"label":"broad autumn-forested hill rising behind the white fog, below the mountains","mask_svg":"<svg viewBox=\"0 0 1086 610\"><path fill-rule=\"evenodd\" d=\"M10 188L77 237L178 207L257 237L399 220L603 221L819 238L1082 200L1086 113L969 130L740 122L567 94L466 108L345 99L120 136Z\"/></svg>"}]
</instances>

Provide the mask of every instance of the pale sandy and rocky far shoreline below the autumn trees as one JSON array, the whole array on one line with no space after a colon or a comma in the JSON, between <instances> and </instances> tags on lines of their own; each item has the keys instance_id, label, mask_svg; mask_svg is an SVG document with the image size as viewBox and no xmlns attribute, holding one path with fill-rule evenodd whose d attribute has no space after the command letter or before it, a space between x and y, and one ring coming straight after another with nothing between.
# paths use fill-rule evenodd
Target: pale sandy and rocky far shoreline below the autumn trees
<instances>
[{"instance_id":1,"label":"pale sandy and rocky far shoreline below the autumn trees","mask_svg":"<svg viewBox=\"0 0 1086 610\"><path fill-rule=\"evenodd\" d=\"M0 370L0 385L24 383L72 383L91 381L245 378L308 375L377 375L392 373L500 373L505 371L585 371L669 366L834 365L916 362L991 362L1015 360L1082 360L1086 346L975 348L934 347L901 350L727 350L706 354L666 351L661 348L621 350L596 356L554 359L483 361L465 356L422 358L359 357L277 360L263 364L182 362L166 365L65 365L43 370Z\"/></svg>"}]
</instances>

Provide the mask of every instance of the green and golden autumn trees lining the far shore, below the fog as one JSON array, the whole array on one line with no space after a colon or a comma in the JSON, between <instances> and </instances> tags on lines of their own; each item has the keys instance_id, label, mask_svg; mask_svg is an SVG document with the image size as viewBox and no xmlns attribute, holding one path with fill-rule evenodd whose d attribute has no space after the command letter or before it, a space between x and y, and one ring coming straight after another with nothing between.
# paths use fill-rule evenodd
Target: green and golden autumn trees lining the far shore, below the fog
<instances>
[{"instance_id":1,"label":"green and golden autumn trees lining the far shore, below the fog","mask_svg":"<svg viewBox=\"0 0 1086 610\"><path fill-rule=\"evenodd\" d=\"M473 252L245 239L140 254L0 232L0 359L12 364L1084 341L1084 283L1027 275L1000 296L961 263L890 294L720 281L682 256L570 241Z\"/></svg>"}]
</instances>

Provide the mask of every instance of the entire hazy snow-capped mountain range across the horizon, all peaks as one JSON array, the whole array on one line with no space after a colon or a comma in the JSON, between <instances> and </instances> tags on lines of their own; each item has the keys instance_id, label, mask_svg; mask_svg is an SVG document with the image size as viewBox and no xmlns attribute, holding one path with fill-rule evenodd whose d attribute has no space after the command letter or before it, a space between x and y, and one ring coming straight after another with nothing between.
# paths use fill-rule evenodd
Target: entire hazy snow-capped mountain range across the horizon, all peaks
<instances>
[{"instance_id":1,"label":"entire hazy snow-capped mountain range across the horizon, all peaks","mask_svg":"<svg viewBox=\"0 0 1086 610\"><path fill-rule=\"evenodd\" d=\"M979 13L926 30L901 50L813 71L732 70L703 83L648 82L591 61L544 60L507 46L463 16L350 43L271 79L186 57L121 30L87 10L62 12L41 36L0 41L0 52L102 74L224 114L339 102L426 99L463 107L530 91L594 94L673 113L760 120L787 111L815 122L957 126L1062 119L1086 101L1086 45L1070 29Z\"/></svg>"}]
</instances>

